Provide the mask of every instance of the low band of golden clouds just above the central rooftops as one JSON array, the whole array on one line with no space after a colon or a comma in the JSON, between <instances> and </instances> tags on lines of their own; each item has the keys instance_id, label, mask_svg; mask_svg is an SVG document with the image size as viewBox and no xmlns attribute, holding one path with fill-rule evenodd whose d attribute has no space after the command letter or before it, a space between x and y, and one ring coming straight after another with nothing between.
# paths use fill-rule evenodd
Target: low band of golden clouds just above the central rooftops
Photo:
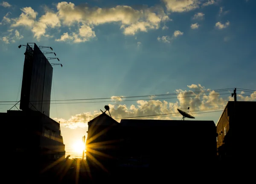
<instances>
[{"instance_id":1,"label":"low band of golden clouds just above the central rooftops","mask_svg":"<svg viewBox=\"0 0 256 184\"><path fill-rule=\"evenodd\" d=\"M226 106L227 100L221 98L218 92L211 89L206 89L201 84L192 84L187 86L188 90L177 89L177 100L174 102L160 101L157 99L138 100L136 104L127 106L126 104L115 104L114 102L108 104L112 118L116 121L120 121L122 118L145 118L150 116L151 119L173 119L180 115L177 109L186 109L190 107L191 111L209 109L216 107ZM209 90L209 92L205 92ZM256 92L251 95L249 99L256 100ZM238 96L240 97L240 96ZM76 128L87 126L87 122L100 115L102 112L94 111L93 113L84 112L72 116L68 120L59 119L61 126ZM156 116L154 116L156 115ZM200 114L198 114L199 116Z\"/></svg>"}]
</instances>

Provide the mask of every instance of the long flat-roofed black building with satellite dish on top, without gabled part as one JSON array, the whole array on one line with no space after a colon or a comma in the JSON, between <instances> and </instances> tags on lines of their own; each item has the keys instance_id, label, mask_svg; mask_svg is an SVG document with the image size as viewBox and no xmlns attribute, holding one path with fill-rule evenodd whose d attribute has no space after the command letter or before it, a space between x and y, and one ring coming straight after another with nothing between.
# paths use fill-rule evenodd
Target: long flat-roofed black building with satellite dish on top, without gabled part
<instances>
[{"instance_id":1,"label":"long flat-roofed black building with satellite dish on top, without gabled part","mask_svg":"<svg viewBox=\"0 0 256 184\"><path fill-rule=\"evenodd\" d=\"M213 167L216 127L213 121L122 119L125 140L120 156L138 159L158 172ZM184 167L186 166L186 167Z\"/></svg>"}]
</instances>

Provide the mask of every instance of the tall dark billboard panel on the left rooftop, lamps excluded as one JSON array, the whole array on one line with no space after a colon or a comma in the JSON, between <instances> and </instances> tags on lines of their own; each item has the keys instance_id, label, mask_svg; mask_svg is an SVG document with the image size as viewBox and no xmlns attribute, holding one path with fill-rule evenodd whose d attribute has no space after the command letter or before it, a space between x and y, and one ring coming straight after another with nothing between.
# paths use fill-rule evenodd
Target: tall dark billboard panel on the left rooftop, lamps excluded
<instances>
[{"instance_id":1,"label":"tall dark billboard panel on the left rooftop, lamps excluded","mask_svg":"<svg viewBox=\"0 0 256 184\"><path fill-rule=\"evenodd\" d=\"M52 66L34 43L27 44L20 95L20 109L40 111L49 116Z\"/></svg>"}]
</instances>

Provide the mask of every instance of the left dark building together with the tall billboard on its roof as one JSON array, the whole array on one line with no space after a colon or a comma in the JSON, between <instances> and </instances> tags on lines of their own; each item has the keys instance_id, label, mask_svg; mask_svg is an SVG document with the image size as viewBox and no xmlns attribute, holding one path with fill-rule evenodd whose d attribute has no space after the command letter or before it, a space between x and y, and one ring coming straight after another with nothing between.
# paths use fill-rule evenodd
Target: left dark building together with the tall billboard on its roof
<instances>
[{"instance_id":1,"label":"left dark building together with the tall billboard on its roof","mask_svg":"<svg viewBox=\"0 0 256 184\"><path fill-rule=\"evenodd\" d=\"M26 45L20 110L0 113L0 122L9 135L8 153L21 170L65 158L60 124L49 118L52 66L39 47L35 43Z\"/></svg>"}]
</instances>

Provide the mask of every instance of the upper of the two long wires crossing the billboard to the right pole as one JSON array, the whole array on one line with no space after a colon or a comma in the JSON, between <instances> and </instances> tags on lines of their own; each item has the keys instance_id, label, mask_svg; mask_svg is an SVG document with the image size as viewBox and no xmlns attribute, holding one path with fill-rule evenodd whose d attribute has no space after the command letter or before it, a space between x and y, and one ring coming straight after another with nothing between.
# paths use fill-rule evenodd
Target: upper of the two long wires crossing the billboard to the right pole
<instances>
[{"instance_id":1,"label":"upper of the two long wires crossing the billboard to the right pole","mask_svg":"<svg viewBox=\"0 0 256 184\"><path fill-rule=\"evenodd\" d=\"M116 99L116 98L142 98L142 97L154 97L154 96L169 96L169 95L186 95L186 94L197 94L203 92L223 92L229 91L233 88L227 89L213 89L213 90L204 90L204 91L197 91L197 92L183 92L183 93L169 93L169 94L158 94L158 95L140 95L140 96L120 96L120 97L110 97L110 98L84 98L84 99L67 99L67 100L50 100L50 101L86 101L86 100L106 100L106 99ZM0 103L17 103L18 101L0 101ZM32 101L31 101L32 102ZM35 101L33 101L35 102Z\"/></svg>"}]
</instances>

